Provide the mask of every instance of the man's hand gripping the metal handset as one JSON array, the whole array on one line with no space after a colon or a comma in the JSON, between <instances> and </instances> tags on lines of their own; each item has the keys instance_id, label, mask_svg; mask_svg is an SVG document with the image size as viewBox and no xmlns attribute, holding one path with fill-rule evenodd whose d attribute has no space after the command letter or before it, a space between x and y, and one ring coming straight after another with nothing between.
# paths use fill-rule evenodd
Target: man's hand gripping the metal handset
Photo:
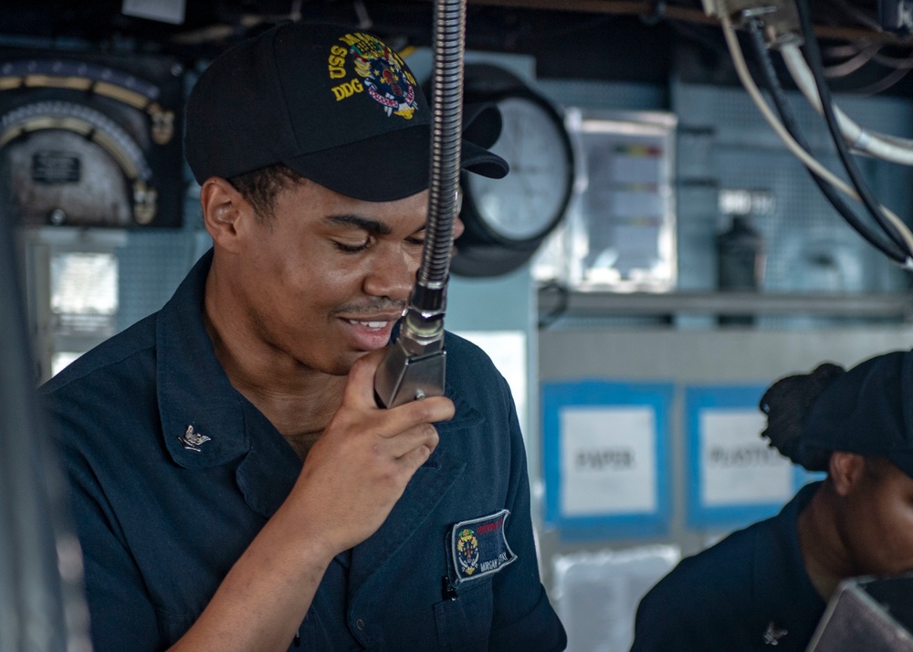
<instances>
[{"instance_id":1,"label":"man's hand gripping the metal handset","mask_svg":"<svg viewBox=\"0 0 913 652\"><path fill-rule=\"evenodd\" d=\"M352 366L342 405L310 449L296 485L315 520L315 535L332 554L380 528L415 470L434 452L438 439L432 424L454 415L444 396L379 407L373 379L385 352L371 352Z\"/></svg>"}]
</instances>

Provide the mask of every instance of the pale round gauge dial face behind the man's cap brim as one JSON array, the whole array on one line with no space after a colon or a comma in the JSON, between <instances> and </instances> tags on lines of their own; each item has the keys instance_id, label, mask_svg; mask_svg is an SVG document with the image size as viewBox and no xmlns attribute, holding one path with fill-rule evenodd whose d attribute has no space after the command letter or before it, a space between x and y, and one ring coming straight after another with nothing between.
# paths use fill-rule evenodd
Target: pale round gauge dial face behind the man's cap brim
<instances>
[{"instance_id":1,"label":"pale round gauge dial face behind the man's cap brim","mask_svg":"<svg viewBox=\"0 0 913 652\"><path fill-rule=\"evenodd\" d=\"M497 236L522 242L561 217L572 184L571 152L557 117L524 97L498 101L503 128L491 151L510 165L503 179L467 174L479 218Z\"/></svg>"}]
</instances>

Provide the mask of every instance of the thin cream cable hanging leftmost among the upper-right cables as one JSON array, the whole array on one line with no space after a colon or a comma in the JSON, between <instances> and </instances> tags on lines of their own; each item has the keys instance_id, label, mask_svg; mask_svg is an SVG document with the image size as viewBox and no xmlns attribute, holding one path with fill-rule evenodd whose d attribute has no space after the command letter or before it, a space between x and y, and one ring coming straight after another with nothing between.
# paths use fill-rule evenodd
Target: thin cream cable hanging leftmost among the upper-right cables
<instances>
[{"instance_id":1,"label":"thin cream cable hanging leftmost among the upper-right cables","mask_svg":"<svg viewBox=\"0 0 913 652\"><path fill-rule=\"evenodd\" d=\"M723 36L726 37L726 45L729 47L729 55L732 57L732 63L735 64L736 72L739 74L739 79L741 80L742 86L748 91L751 100L757 105L758 110L761 111L761 115L764 116L764 120L771 125L771 129L776 132L782 142L786 144L786 147L792 152L799 160L801 160L814 174L817 174L828 184L833 185L844 195L852 197L855 201L861 202L859 195L856 193L855 188L850 187L845 184L843 180L834 175L830 170L828 170L824 165L822 165L817 159L815 159L809 152L803 150L802 146L795 142L790 135L789 131L786 131L786 127L783 126L782 122L776 115L773 114L771 108L767 105L767 101L764 100L761 95L761 90L758 89L758 86L754 83L754 79L751 79L751 75L748 69L748 65L745 63L745 58L742 56L741 48L739 47L739 39L736 37L735 27L732 26L732 21L729 19L725 13L719 18L723 26ZM883 205L879 205L884 215L890 220L891 224L897 229L897 233L900 237L903 238L904 242L907 244L907 251L913 252L913 233L910 232L910 229L904 221L900 219L897 215L894 214L889 208L886 208ZM913 258L907 258L907 260L902 265L905 269L913 270Z\"/></svg>"}]
</instances>

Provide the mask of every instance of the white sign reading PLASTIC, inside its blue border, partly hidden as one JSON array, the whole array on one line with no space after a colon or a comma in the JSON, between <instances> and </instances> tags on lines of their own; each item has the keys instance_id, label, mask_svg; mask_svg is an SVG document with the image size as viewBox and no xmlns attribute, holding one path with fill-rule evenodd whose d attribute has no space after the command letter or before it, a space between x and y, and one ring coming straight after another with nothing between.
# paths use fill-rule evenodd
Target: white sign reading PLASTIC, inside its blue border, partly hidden
<instances>
[{"instance_id":1,"label":"white sign reading PLASTIC, inside its blue border, partly hidden","mask_svg":"<svg viewBox=\"0 0 913 652\"><path fill-rule=\"evenodd\" d=\"M757 409L705 409L700 428L700 498L706 507L781 503L794 493L790 460L761 438Z\"/></svg>"}]
</instances>

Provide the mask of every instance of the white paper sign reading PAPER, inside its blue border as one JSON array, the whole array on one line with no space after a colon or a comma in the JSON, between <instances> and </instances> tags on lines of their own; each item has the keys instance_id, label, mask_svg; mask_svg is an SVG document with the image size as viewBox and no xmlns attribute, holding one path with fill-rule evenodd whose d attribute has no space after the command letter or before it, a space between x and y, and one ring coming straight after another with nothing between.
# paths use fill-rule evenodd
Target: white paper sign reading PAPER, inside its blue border
<instances>
[{"instance_id":1,"label":"white paper sign reading PAPER, inside its blue border","mask_svg":"<svg viewBox=\"0 0 913 652\"><path fill-rule=\"evenodd\" d=\"M561 409L560 415L562 513L656 511L654 409L577 405Z\"/></svg>"}]
</instances>

